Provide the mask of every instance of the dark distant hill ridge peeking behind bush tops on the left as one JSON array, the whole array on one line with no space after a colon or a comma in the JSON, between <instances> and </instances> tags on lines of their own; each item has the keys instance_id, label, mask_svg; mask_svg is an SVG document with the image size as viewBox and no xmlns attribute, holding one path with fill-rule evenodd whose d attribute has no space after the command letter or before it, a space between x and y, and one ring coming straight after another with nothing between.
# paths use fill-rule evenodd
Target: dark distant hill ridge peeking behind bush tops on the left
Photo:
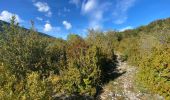
<instances>
[{"instance_id":1,"label":"dark distant hill ridge peeking behind bush tops on the left","mask_svg":"<svg viewBox=\"0 0 170 100\"><path fill-rule=\"evenodd\" d=\"M3 29L2 29L2 26L3 26L3 25L9 26L10 23L0 20L0 31L3 31ZM29 29L27 29L27 28L24 28L24 27L20 27L20 28L23 29L23 30L29 31ZM47 35L47 34L45 34L45 33L42 33L42 32L38 32L38 33L39 33L39 35L41 35L41 36L45 36L45 37L49 37L49 38L54 38L54 37L52 37L52 36L50 36L50 35Z\"/></svg>"}]
</instances>

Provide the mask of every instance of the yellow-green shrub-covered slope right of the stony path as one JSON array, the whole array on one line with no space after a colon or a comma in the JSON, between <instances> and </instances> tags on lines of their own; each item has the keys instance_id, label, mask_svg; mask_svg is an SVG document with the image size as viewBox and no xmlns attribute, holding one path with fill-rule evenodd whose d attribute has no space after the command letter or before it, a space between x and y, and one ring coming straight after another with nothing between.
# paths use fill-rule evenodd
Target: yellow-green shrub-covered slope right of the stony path
<instances>
[{"instance_id":1,"label":"yellow-green shrub-covered slope right of the stony path","mask_svg":"<svg viewBox=\"0 0 170 100\"><path fill-rule=\"evenodd\" d=\"M112 32L122 34L121 41L114 39L114 48L123 54L123 60L138 66L136 82L139 86L158 93L167 100L170 98L169 24L170 19L165 19L134 30Z\"/></svg>"}]
</instances>

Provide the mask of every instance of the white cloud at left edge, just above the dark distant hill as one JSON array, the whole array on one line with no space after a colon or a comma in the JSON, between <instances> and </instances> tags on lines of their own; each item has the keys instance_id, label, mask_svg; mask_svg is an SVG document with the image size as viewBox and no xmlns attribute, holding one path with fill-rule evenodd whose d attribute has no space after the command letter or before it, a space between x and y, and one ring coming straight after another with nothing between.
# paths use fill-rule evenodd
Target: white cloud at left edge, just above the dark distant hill
<instances>
[{"instance_id":1,"label":"white cloud at left edge, just above the dark distant hill","mask_svg":"<svg viewBox=\"0 0 170 100\"><path fill-rule=\"evenodd\" d=\"M6 22L10 22L12 16L16 17L16 22L22 22L23 20L19 17L19 15L8 12L6 10L2 11L0 14L0 20L6 21Z\"/></svg>"}]
</instances>

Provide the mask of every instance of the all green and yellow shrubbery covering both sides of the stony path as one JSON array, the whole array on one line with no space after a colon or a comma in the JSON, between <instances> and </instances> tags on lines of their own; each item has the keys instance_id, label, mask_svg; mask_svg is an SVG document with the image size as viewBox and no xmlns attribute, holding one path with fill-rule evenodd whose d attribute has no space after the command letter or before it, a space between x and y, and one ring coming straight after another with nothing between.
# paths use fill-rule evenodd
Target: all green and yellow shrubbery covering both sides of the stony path
<instances>
[{"instance_id":1,"label":"all green and yellow shrubbery covering both sides of the stony path","mask_svg":"<svg viewBox=\"0 0 170 100\"><path fill-rule=\"evenodd\" d=\"M1 24L0 24L1 25ZM1 25L2 27L2 25ZM170 19L123 32L89 30L67 40L40 35L15 22L0 32L0 99L95 99L118 75L117 56L138 67L141 89L170 99Z\"/></svg>"}]
</instances>

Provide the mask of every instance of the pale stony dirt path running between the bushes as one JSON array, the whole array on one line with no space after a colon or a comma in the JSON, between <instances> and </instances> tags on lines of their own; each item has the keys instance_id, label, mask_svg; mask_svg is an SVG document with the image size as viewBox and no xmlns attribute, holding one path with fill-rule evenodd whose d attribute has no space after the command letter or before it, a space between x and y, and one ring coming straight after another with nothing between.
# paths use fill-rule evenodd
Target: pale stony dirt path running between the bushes
<instances>
[{"instance_id":1,"label":"pale stony dirt path running between the bushes","mask_svg":"<svg viewBox=\"0 0 170 100\"><path fill-rule=\"evenodd\" d=\"M134 85L137 68L121 62L119 55L116 71L124 74L103 87L101 100L164 100L159 95L139 91Z\"/></svg>"}]
</instances>

